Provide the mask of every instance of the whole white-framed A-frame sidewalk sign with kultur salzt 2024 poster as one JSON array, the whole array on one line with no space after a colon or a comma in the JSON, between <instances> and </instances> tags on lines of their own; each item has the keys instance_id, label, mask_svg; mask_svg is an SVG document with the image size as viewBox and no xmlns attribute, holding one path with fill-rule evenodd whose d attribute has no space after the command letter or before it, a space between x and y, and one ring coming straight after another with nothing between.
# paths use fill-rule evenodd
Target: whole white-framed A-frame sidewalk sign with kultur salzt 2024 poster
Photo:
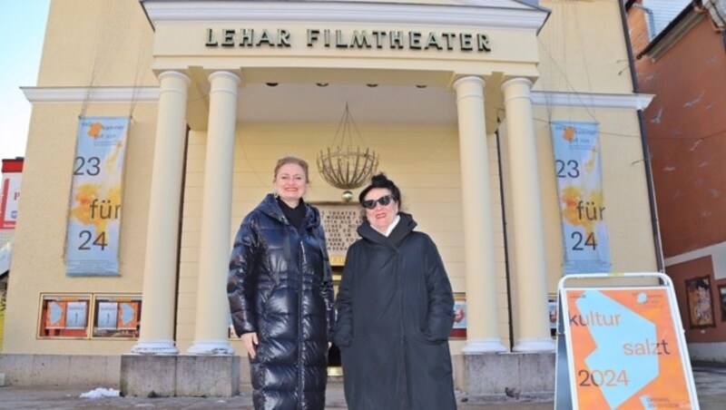
<instances>
[{"instance_id":1,"label":"whole white-framed A-frame sidewalk sign with kultur salzt 2024 poster","mask_svg":"<svg viewBox=\"0 0 726 410\"><path fill-rule=\"evenodd\" d=\"M699 409L671 278L567 275L557 305L556 410Z\"/></svg>"}]
</instances>

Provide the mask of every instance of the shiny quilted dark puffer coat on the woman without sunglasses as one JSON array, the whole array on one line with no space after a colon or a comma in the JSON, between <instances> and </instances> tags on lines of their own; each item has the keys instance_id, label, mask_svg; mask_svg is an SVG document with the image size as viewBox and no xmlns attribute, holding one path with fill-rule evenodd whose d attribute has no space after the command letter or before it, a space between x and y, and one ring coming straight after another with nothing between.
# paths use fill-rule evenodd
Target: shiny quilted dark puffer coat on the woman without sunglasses
<instances>
[{"instance_id":1,"label":"shiny quilted dark puffer coat on the woman without sunglasses","mask_svg":"<svg viewBox=\"0 0 726 410\"><path fill-rule=\"evenodd\" d=\"M256 409L325 407L333 288L319 211L300 230L270 194L242 220L227 293L238 336L256 332L250 359Z\"/></svg>"}]
</instances>

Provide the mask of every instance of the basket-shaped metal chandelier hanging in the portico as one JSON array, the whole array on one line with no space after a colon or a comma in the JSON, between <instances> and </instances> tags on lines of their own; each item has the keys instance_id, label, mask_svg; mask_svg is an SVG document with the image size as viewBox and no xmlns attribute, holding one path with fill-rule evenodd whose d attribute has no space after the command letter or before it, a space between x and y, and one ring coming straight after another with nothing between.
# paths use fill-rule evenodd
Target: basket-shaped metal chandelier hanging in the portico
<instances>
[{"instance_id":1,"label":"basket-shaped metal chandelier hanging in the portico","mask_svg":"<svg viewBox=\"0 0 726 410\"><path fill-rule=\"evenodd\" d=\"M333 138L332 147L324 148L318 154L318 171L323 179L330 185L341 190L354 190L367 181L378 170L378 155L369 148L353 148L353 135L356 132L358 140L360 132L353 117L350 115L348 103L346 110L338 122L338 129ZM343 195L343 198L352 198L352 194Z\"/></svg>"}]
</instances>

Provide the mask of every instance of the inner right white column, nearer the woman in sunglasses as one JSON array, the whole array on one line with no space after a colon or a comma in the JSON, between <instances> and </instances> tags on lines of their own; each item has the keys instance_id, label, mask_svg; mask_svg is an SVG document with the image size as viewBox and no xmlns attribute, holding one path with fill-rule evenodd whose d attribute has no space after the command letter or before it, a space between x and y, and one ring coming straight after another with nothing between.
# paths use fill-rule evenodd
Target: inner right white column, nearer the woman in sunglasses
<instances>
[{"instance_id":1,"label":"inner right white column, nearer the woman in sunglasses","mask_svg":"<svg viewBox=\"0 0 726 410\"><path fill-rule=\"evenodd\" d=\"M496 307L494 223L486 149L484 80L464 77L454 83L461 152L466 265L465 354L503 352Z\"/></svg>"}]
</instances>

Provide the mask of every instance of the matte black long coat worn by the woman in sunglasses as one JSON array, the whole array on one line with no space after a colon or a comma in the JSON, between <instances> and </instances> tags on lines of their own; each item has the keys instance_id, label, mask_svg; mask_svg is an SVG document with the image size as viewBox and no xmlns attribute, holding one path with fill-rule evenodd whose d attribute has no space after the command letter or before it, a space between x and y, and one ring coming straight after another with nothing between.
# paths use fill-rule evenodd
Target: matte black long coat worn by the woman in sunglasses
<instances>
[{"instance_id":1,"label":"matte black long coat worn by the woman in sunglasses","mask_svg":"<svg viewBox=\"0 0 726 410\"><path fill-rule=\"evenodd\" d=\"M348 408L456 409L451 285L434 242L399 215L388 238L364 222L348 249L334 337Z\"/></svg>"}]
</instances>

